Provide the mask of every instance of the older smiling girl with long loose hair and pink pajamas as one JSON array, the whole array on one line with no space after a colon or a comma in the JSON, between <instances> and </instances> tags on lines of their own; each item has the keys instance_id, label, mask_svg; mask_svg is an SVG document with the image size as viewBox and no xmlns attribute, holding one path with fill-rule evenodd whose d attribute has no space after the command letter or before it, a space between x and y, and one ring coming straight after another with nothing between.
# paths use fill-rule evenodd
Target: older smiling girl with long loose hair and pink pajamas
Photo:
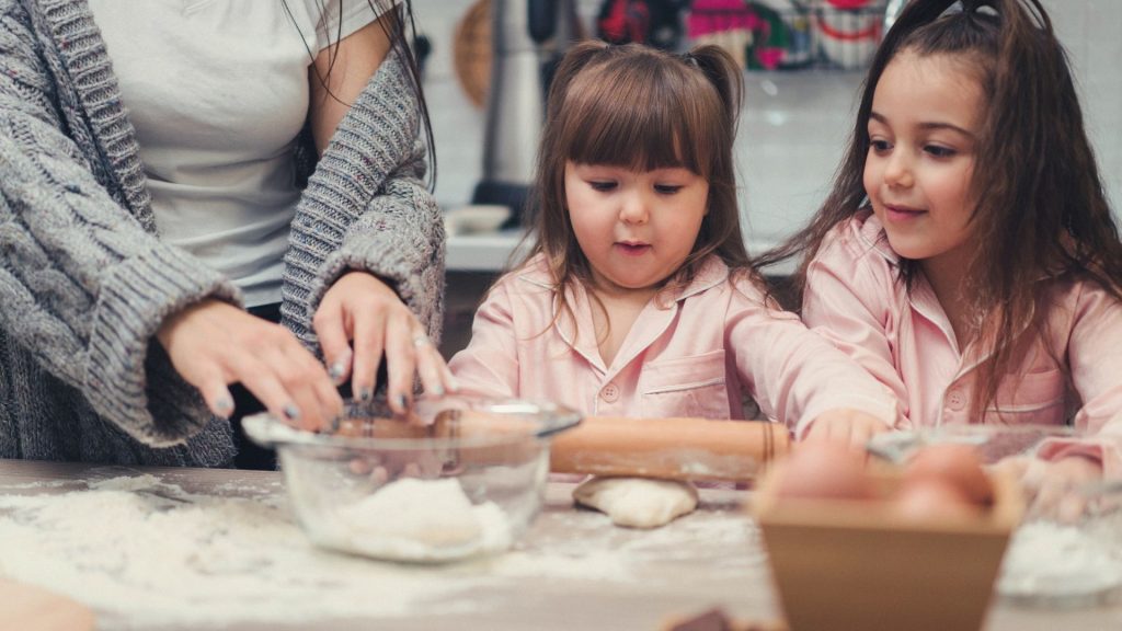
<instances>
[{"instance_id":1,"label":"older smiling girl with long loose hair and pink pajamas","mask_svg":"<svg viewBox=\"0 0 1122 631\"><path fill-rule=\"evenodd\" d=\"M1031 460L1041 509L1118 470L1122 243L1037 0L908 4L833 192L761 264L800 252L803 320L896 393L892 427L1073 423ZM889 429L861 422L809 432Z\"/></svg>"}]
</instances>

